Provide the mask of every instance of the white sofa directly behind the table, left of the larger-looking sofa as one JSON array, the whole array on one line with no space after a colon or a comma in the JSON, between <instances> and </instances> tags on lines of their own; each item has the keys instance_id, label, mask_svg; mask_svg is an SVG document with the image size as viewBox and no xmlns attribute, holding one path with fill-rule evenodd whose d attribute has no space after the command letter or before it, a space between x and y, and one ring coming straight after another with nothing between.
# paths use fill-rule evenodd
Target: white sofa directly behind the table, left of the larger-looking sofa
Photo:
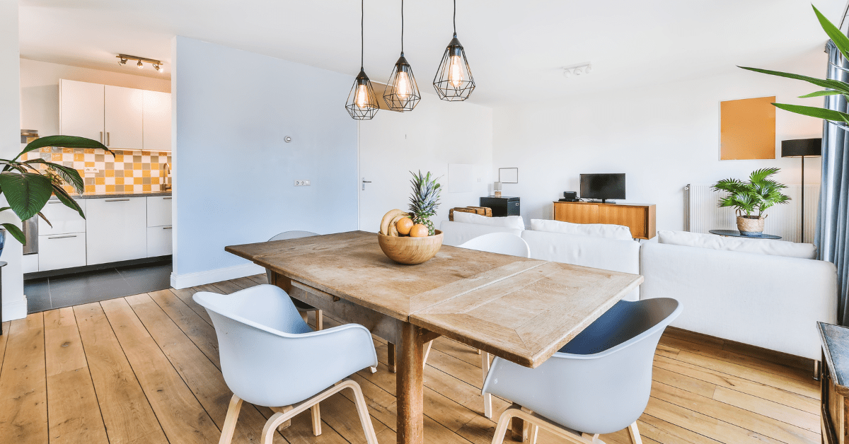
<instances>
[{"instance_id":1,"label":"white sofa directly behind the table, left of the larger-looking sofa","mask_svg":"<svg viewBox=\"0 0 849 444\"><path fill-rule=\"evenodd\" d=\"M633 239L607 239L450 221L441 222L440 229L442 243L446 245L464 244L488 233L513 233L525 239L534 259L639 274L639 243ZM634 289L623 299L638 301L639 289Z\"/></svg>"}]
</instances>

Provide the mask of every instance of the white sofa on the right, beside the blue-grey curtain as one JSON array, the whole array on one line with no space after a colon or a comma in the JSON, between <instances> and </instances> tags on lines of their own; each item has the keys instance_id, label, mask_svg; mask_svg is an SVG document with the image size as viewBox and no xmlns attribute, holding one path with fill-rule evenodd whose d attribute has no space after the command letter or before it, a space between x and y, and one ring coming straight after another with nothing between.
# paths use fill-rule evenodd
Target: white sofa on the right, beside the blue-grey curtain
<instances>
[{"instance_id":1,"label":"white sofa on the right, beside the blue-grey curtain","mask_svg":"<svg viewBox=\"0 0 849 444\"><path fill-rule=\"evenodd\" d=\"M640 272L641 299L682 303L680 329L819 360L817 321L837 321L831 262L644 242Z\"/></svg>"}]
</instances>

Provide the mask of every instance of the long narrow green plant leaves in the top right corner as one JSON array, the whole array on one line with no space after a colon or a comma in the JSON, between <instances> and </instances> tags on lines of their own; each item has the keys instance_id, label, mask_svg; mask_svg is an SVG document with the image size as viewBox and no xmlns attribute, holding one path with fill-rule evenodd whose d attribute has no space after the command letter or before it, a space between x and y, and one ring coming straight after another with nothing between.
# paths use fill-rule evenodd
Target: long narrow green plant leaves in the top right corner
<instances>
[{"instance_id":1,"label":"long narrow green plant leaves in the top right corner","mask_svg":"<svg viewBox=\"0 0 849 444\"><path fill-rule=\"evenodd\" d=\"M819 24L823 26L823 30L825 31L825 33L829 36L829 38L831 38L832 42L835 42L835 47L837 47L837 49L841 52L843 58L849 60L849 37L846 37L846 35L844 35L841 30L837 28L837 26L835 26L828 19L826 19L825 16L819 12L817 7L813 5L811 6L813 8L814 14L817 14ZM846 83L844 81L828 79L821 80L814 77L800 76L798 74L790 74L787 72L772 70L762 70L759 68L749 68L745 66L740 66L740 68L743 68L744 70L762 72L771 76L781 76L796 80L803 80L817 85L818 87L828 88L824 91L816 91L814 93L806 94L804 96L799 96L800 98L842 95L844 98L849 100L849 83ZM809 115L811 117L818 117L819 119L825 119L827 121L833 121L844 130L849 130L849 126L847 126L849 125L849 114L843 113L841 111L824 110L823 108L817 108L814 106L802 106L796 104L773 105L775 105L781 110L786 110L801 115Z\"/></svg>"}]
</instances>

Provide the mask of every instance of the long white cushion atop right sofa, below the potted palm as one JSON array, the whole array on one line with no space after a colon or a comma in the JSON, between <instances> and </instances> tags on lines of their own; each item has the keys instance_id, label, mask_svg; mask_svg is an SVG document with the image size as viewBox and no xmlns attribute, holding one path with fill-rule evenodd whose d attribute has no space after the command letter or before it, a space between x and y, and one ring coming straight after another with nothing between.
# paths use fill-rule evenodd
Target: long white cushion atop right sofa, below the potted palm
<instances>
[{"instance_id":1,"label":"long white cushion atop right sofa, below the potted palm","mask_svg":"<svg viewBox=\"0 0 849 444\"><path fill-rule=\"evenodd\" d=\"M738 251L758 255L798 257L801 259L817 258L817 248L813 244L796 244L784 240L732 238L686 231L659 231L657 238L661 244Z\"/></svg>"}]
</instances>

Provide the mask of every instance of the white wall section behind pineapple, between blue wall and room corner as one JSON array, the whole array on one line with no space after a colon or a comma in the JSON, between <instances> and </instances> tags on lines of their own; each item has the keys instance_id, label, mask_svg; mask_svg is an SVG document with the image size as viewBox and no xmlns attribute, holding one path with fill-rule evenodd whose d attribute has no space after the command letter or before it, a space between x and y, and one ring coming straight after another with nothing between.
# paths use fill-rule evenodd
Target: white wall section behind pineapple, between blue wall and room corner
<instances>
[{"instance_id":1,"label":"white wall section behind pineapple, between blue wall and room corner","mask_svg":"<svg viewBox=\"0 0 849 444\"><path fill-rule=\"evenodd\" d=\"M430 83L424 83L430 87ZM382 93L382 90L380 91ZM492 110L467 102L445 102L424 93L415 110L380 110L360 123L360 228L376 233L380 219L394 208L407 210L410 172L430 171L446 189L431 220L447 220L455 206L478 205L492 181ZM473 191L448 193L448 164L474 165ZM477 179L481 182L477 182Z\"/></svg>"}]
</instances>

